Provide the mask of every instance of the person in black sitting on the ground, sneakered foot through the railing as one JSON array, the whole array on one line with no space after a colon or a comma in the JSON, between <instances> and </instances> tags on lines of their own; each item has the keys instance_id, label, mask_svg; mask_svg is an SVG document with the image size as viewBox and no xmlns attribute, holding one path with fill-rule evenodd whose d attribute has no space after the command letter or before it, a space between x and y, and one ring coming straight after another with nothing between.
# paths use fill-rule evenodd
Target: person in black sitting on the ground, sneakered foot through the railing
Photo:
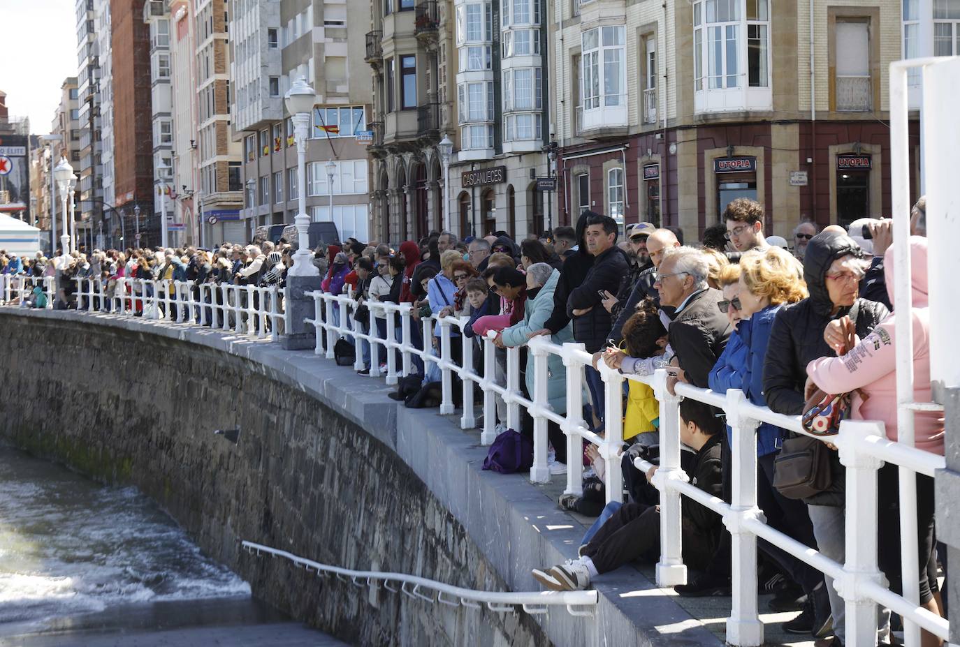
<instances>
[{"instance_id":1,"label":"person in black sitting on the ground, sneakered foot through the railing","mask_svg":"<svg viewBox=\"0 0 960 647\"><path fill-rule=\"evenodd\" d=\"M696 451L690 482L712 497L720 496L720 437L723 422L713 408L695 400L680 404L680 440ZM647 474L652 478L657 468ZM681 528L684 563L702 569L720 535L720 517L702 504L683 497ZM607 520L589 543L580 547L581 557L548 570L535 569L534 577L548 589L580 590L600 573L645 558L660 557L660 506L625 503Z\"/></svg>"}]
</instances>

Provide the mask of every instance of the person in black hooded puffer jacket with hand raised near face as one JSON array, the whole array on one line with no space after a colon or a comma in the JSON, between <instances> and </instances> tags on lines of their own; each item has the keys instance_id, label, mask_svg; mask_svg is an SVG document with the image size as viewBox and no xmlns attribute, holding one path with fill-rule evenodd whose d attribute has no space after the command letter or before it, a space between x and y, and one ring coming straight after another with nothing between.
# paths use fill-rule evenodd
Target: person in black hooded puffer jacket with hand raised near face
<instances>
[{"instance_id":1,"label":"person in black hooded puffer jacket with hand raised near face","mask_svg":"<svg viewBox=\"0 0 960 647\"><path fill-rule=\"evenodd\" d=\"M866 262L863 250L846 234L823 231L814 236L804 254L804 280L810 296L777 313L763 368L767 405L778 413L796 415L804 410L806 364L833 356L824 340L829 321L850 316L861 339L887 315L887 308L859 298L858 284ZM836 452L830 452L830 487L804 499L821 553L842 562L844 545L845 470ZM842 640L844 601L828 580L833 626Z\"/></svg>"}]
</instances>

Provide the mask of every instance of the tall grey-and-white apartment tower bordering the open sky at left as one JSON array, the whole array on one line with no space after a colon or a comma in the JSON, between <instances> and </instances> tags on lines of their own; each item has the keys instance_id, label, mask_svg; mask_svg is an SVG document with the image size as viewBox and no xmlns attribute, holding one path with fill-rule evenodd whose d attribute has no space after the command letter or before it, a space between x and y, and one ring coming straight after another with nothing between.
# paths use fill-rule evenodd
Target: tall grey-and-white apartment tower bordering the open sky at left
<instances>
[{"instance_id":1,"label":"tall grey-and-white apartment tower bordering the open sky at left","mask_svg":"<svg viewBox=\"0 0 960 647\"><path fill-rule=\"evenodd\" d=\"M108 5L109 0L77 0L74 5L77 17L77 116L80 125L80 179L77 186L83 220L102 218L104 171L97 15L103 11L105 4Z\"/></svg>"}]
</instances>

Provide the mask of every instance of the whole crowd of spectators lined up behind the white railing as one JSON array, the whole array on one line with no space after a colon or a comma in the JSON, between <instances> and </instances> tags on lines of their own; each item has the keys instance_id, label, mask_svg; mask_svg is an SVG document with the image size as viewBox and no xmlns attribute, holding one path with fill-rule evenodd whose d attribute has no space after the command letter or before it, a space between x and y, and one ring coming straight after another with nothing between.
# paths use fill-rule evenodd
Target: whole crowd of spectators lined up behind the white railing
<instances>
[{"instance_id":1,"label":"whole crowd of spectators lined up behind the white railing","mask_svg":"<svg viewBox=\"0 0 960 647\"><path fill-rule=\"evenodd\" d=\"M531 338L545 335L557 344L583 344L593 355L592 365L585 368L589 397L583 414L600 435L607 412L598 366L605 362L625 375L647 376L665 368L671 393L679 382L719 392L740 389L751 403L782 414L804 413L817 389L849 393L849 416L882 421L888 436L896 439L894 331L906 324L891 312L891 221L856 221L849 230L831 225L819 232L814 223L804 221L794 229L792 244L766 237L765 221L760 204L737 198L726 207L722 221L704 231L701 242L684 243L679 228L649 222L629 225L625 240L618 241L615 220L586 211L575 227L557 227L519 243L505 232L464 241L450 232L437 232L419 242L400 243L396 249L348 239L321 245L313 250L312 261L323 277L324 291L348 293L355 300L350 313L365 334L375 328L376 336L386 339L388 317L396 316L372 309L371 304L409 303L418 321L410 327L411 342L436 354L440 324L424 327L420 322L432 315L456 316L467 323L451 331L450 357L460 358L466 350L473 354L474 367L483 370L480 339L492 335L494 375L501 385L507 382L507 349L520 347L519 388L528 398L535 390L533 354L524 348ZM930 380L924 198L913 208L911 233L914 379L917 400L926 402ZM52 261L40 255L18 259L0 251L0 272L100 277L108 283L147 277L282 287L292 255L284 241L223 245L209 251L95 250L89 258L72 254ZM59 307L72 307L72 283L59 282ZM335 325L341 315L339 307L332 309ZM397 341L400 328L394 326ZM361 354L362 374L371 371L372 363L386 361L372 357L370 345L362 339L344 343ZM547 400L554 411L564 414L565 367L557 356L548 362ZM414 367L415 374L401 380L394 395L408 405L424 405L430 400L422 393L440 381L439 368L420 358L414 358ZM643 456L657 462L659 404L650 387L628 383L620 465L605 464L591 445L583 455L568 456L564 432L553 422L548 424L550 473L564 474L569 460L583 460L588 467L584 495L564 495L559 505L597 518L579 558L534 571L549 589L584 589L618 566L659 559L659 495L649 483L657 468L638 474L633 461ZM733 430L725 426L721 414L708 404L682 401L683 465L698 488L730 501ZM495 415L497 434L507 432L507 406L500 398ZM916 416L917 446L942 454L943 420L935 413ZM519 427L514 431L532 437L529 414L522 414ZM780 458L786 457L789 443L802 440L766 423L756 428L758 506L771 526L842 563L845 481L837 451L811 441L815 448L806 449L828 465L828 477L803 492L779 482ZM604 505L606 475L612 470L622 471L627 500L613 497ZM891 529L900 519L898 478L896 466L879 472L879 514ZM932 479L918 475L917 492L921 601L929 611L943 614ZM731 537L720 518L684 498L682 528L684 562L697 574L676 587L677 592L729 594ZM799 612L783 629L842 645L844 601L829 578L776 546L759 545L760 586L776 593L771 609ZM891 588L900 592L896 530L881 533L878 559ZM889 614L878 615L877 633L883 639L888 637L889 622ZM936 644L935 637L924 633L924 644Z\"/></svg>"}]
</instances>

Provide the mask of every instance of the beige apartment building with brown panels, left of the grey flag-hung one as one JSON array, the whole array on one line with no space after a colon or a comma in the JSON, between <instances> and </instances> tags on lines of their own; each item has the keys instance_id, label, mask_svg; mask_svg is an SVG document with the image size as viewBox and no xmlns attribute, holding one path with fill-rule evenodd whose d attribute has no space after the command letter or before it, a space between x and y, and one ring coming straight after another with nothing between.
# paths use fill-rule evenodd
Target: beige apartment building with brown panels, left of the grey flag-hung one
<instances>
[{"instance_id":1,"label":"beige apartment building with brown panels, left of the grey flag-hung one","mask_svg":"<svg viewBox=\"0 0 960 647\"><path fill-rule=\"evenodd\" d=\"M200 191L199 208L204 220L215 223L239 220L243 208L241 145L234 141L231 126L229 8L240 3L226 0L194 0L196 42L197 141L196 163ZM196 194L195 194L196 196ZM196 201L196 200L195 200ZM246 242L249 236L214 226L208 243Z\"/></svg>"}]
</instances>

